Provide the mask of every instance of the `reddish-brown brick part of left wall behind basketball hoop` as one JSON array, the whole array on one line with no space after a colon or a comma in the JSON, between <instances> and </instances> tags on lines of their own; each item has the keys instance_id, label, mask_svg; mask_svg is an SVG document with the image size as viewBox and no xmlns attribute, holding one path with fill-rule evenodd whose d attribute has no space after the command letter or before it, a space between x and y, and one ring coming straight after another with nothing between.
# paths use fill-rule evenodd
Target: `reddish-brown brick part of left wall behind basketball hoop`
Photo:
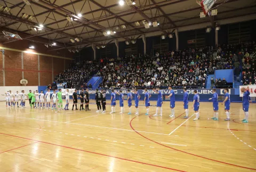
<instances>
[{"instance_id":1,"label":"reddish-brown brick part of left wall behind basketball hoop","mask_svg":"<svg viewBox=\"0 0 256 172\"><path fill-rule=\"evenodd\" d=\"M3 47L1 44L0 46ZM27 86L49 85L55 75L68 68L72 62L35 51L36 54L31 54L15 50L3 50L4 55L0 52L0 86L20 86L21 79L28 80Z\"/></svg>"}]
</instances>

